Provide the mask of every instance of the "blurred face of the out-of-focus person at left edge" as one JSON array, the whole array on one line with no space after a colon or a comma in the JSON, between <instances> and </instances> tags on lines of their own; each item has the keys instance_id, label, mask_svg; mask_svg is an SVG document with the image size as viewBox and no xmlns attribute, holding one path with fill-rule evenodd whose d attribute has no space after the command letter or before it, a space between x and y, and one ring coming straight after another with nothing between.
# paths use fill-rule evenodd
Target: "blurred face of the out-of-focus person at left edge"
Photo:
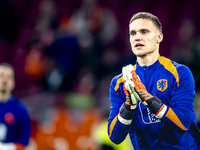
<instances>
[{"instance_id":1,"label":"blurred face of the out-of-focus person at left edge","mask_svg":"<svg viewBox=\"0 0 200 150\"><path fill-rule=\"evenodd\" d=\"M0 67L0 94L9 95L14 89L14 72L11 68Z\"/></svg>"}]
</instances>

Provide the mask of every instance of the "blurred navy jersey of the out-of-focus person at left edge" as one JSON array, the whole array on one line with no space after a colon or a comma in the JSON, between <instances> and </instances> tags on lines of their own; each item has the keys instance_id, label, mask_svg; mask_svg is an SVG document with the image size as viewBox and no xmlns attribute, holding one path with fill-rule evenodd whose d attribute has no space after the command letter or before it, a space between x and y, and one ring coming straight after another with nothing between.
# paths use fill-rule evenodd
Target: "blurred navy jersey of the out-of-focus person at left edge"
<instances>
[{"instance_id":1,"label":"blurred navy jersey of the out-of-focus person at left edge","mask_svg":"<svg viewBox=\"0 0 200 150\"><path fill-rule=\"evenodd\" d=\"M30 138L30 118L24 105L14 96L0 103L0 142L26 146Z\"/></svg>"}]
</instances>

